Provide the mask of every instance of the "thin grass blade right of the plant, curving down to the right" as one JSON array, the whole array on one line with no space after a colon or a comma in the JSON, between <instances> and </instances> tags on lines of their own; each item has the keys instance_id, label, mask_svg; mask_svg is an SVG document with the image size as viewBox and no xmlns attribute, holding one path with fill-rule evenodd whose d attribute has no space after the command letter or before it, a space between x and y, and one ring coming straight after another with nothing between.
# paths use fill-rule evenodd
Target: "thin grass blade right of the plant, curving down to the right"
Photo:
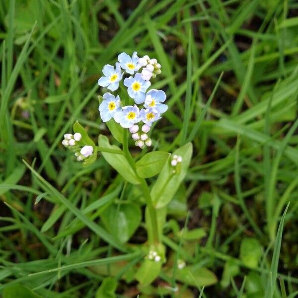
<instances>
[{"instance_id":1,"label":"thin grass blade right of the plant, curving down to the right","mask_svg":"<svg viewBox=\"0 0 298 298\"><path fill-rule=\"evenodd\" d=\"M252 219L243 198L243 194L241 190L240 167L239 167L239 148L240 148L240 137L238 135L236 148L235 148L235 164L234 164L234 183L235 183L236 194L239 200L240 207L244 215L246 216L247 221L259 236L263 236L262 231L259 229L258 225Z\"/></svg>"}]
</instances>

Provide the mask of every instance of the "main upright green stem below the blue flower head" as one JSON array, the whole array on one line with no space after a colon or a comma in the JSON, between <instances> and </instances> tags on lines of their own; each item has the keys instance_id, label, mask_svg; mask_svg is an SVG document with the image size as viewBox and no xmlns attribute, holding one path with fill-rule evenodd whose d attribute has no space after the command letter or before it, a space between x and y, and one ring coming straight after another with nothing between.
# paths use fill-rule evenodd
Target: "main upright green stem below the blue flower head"
<instances>
[{"instance_id":1,"label":"main upright green stem below the blue flower head","mask_svg":"<svg viewBox=\"0 0 298 298\"><path fill-rule=\"evenodd\" d=\"M158 236L156 210L153 207L149 187L148 187L148 184L147 184L146 180L144 178L141 178L137 174L135 161L134 161L133 156L131 155L131 153L129 151L129 148L128 148L128 130L127 129L125 129L124 133L123 133L123 152L124 152L124 155L125 155L127 161L129 162L129 164L133 168L134 172L136 173L136 175L137 175L137 177L140 181L141 188L142 188L142 191L143 191L143 195L146 199L147 207L148 207L148 210L149 210L150 223L152 224L153 242L154 242L154 244L158 244L160 241L159 241L159 236Z\"/></svg>"}]
</instances>

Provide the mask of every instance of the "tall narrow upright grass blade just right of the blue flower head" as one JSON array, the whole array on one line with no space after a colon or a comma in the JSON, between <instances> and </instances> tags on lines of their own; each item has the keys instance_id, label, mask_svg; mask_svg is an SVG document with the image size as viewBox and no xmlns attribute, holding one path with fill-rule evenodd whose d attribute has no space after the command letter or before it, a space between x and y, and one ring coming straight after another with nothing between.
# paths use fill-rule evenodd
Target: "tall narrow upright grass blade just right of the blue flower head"
<instances>
[{"instance_id":1,"label":"tall narrow upright grass blade just right of the blue flower head","mask_svg":"<svg viewBox=\"0 0 298 298\"><path fill-rule=\"evenodd\" d=\"M180 147L186 143L188 126L190 122L190 106L191 106L191 94L192 94L192 61L191 61L191 30L189 30L188 39L188 52L187 52L187 77L186 77L186 96L185 96L185 108L183 115L182 134L180 140Z\"/></svg>"}]
</instances>

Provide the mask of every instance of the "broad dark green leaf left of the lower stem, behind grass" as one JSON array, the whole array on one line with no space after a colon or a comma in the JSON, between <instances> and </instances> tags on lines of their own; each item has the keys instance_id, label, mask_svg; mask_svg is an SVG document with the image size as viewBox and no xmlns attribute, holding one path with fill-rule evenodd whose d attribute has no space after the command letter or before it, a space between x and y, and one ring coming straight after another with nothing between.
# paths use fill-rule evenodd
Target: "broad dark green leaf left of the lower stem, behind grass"
<instances>
[{"instance_id":1,"label":"broad dark green leaf left of the lower stem, behind grass","mask_svg":"<svg viewBox=\"0 0 298 298\"><path fill-rule=\"evenodd\" d=\"M101 215L107 230L119 242L125 243L141 222L141 210L136 204L110 205Z\"/></svg>"}]
</instances>

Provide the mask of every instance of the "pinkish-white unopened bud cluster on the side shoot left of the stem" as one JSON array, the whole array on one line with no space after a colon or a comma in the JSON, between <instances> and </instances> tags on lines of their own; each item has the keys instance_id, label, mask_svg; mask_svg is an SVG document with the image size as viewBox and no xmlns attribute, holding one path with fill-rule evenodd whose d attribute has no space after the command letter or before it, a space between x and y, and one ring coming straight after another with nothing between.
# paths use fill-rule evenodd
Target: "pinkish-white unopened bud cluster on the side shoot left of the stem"
<instances>
[{"instance_id":1,"label":"pinkish-white unopened bud cluster on the side shoot left of the stem","mask_svg":"<svg viewBox=\"0 0 298 298\"><path fill-rule=\"evenodd\" d=\"M73 149L74 155L76 156L77 160L83 160L90 156L93 153L92 146L83 146L82 148L79 147L78 142L81 140L82 135L80 133L72 134L65 134L64 140L62 141L62 145L66 148Z\"/></svg>"}]
</instances>

